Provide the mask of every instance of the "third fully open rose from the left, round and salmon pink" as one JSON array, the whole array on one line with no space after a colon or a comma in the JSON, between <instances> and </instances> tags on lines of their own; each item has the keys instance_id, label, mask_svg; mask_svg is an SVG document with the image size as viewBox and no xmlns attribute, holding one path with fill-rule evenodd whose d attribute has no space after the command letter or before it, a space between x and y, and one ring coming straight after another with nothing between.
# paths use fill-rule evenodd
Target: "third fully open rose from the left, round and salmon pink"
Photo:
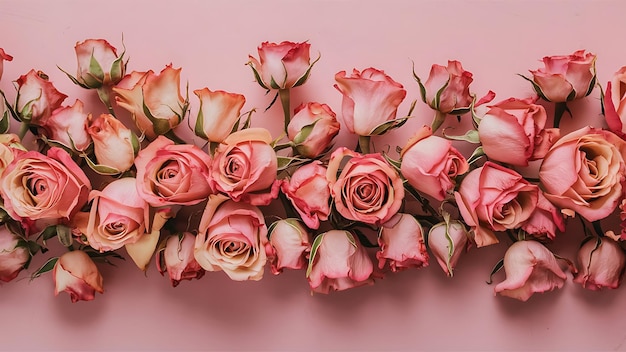
<instances>
[{"instance_id":1,"label":"third fully open rose from the left, round and salmon pink","mask_svg":"<svg viewBox=\"0 0 626 352\"><path fill-rule=\"evenodd\" d=\"M158 136L135 158L137 190L153 207L198 204L213 193L210 165L199 147Z\"/></svg>"}]
</instances>

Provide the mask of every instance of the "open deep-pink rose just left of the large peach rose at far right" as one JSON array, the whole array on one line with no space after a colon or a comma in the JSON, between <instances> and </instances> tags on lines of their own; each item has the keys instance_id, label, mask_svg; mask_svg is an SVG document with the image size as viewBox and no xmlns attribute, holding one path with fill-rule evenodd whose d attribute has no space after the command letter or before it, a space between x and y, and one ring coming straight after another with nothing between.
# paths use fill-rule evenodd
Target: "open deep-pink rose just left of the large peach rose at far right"
<instances>
[{"instance_id":1,"label":"open deep-pink rose just left of the large peach rose at far right","mask_svg":"<svg viewBox=\"0 0 626 352\"><path fill-rule=\"evenodd\" d=\"M471 171L454 193L477 247L498 243L493 231L521 227L537 207L539 187L493 162Z\"/></svg>"}]
</instances>

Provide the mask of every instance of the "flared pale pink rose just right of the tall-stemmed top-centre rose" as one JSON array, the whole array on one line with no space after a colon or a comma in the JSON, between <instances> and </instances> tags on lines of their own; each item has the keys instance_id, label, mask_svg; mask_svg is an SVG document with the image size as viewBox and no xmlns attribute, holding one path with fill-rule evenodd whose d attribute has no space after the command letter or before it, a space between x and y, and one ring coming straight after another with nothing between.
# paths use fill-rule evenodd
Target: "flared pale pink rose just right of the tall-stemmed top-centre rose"
<instances>
[{"instance_id":1,"label":"flared pale pink rose just right of the tall-stemmed top-centre rose","mask_svg":"<svg viewBox=\"0 0 626 352\"><path fill-rule=\"evenodd\" d=\"M335 74L335 88L343 94L341 113L348 131L369 136L376 127L396 118L398 106L406 97L404 87L375 68Z\"/></svg>"}]
</instances>

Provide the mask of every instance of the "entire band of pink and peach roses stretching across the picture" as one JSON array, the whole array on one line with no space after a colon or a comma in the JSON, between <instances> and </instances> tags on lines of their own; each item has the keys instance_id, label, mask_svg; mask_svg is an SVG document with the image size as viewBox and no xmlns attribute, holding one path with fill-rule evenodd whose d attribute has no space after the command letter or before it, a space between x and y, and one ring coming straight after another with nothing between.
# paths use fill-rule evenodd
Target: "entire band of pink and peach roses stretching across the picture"
<instances>
[{"instance_id":1,"label":"entire band of pink and peach roses stretching across the picture","mask_svg":"<svg viewBox=\"0 0 626 352\"><path fill-rule=\"evenodd\" d=\"M282 106L278 138L251 127L255 109L244 110L242 94L195 89L192 116L181 68L128 72L125 52L103 39L75 51L76 74L63 72L107 113L93 116L80 99L64 105L68 96L36 70L15 80L14 101L2 94L0 280L15 279L56 237L64 250L31 275L51 271L55 293L73 302L102 294L98 265L122 255L144 271L155 263L173 286L213 271L260 280L269 268L301 270L313 292L329 293L427 267L431 257L453 276L470 247L499 242L507 243L500 295L525 301L562 287L568 271L588 289L620 284L626 223L611 216L626 219L626 68L606 85L608 128L559 127L573 114L566 104L598 84L591 53L545 57L522 76L536 96L499 102L491 91L477 99L459 61L433 65L425 81L413 72L434 117L394 156L371 139L404 126L415 103L399 114L407 90L383 70L338 72L339 114L317 101L291 110L291 90L319 60L307 42L265 42L249 57L256 82L274 94L270 107ZM0 78L11 60L0 49ZM450 116L472 127L451 136L440 129ZM186 125L201 144L180 137ZM341 129L354 148L334 147ZM33 147L22 143L27 133ZM275 203L283 211L267 213ZM581 242L575 261L549 249L573 217L585 234L572 239Z\"/></svg>"}]
</instances>

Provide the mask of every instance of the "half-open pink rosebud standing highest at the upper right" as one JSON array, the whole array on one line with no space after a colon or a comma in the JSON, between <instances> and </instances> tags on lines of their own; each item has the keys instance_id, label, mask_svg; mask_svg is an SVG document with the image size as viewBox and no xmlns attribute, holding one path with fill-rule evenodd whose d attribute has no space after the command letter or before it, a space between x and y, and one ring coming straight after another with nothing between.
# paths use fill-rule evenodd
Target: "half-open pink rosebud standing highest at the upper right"
<instances>
[{"instance_id":1,"label":"half-open pink rosebud standing highest at the upper right","mask_svg":"<svg viewBox=\"0 0 626 352\"><path fill-rule=\"evenodd\" d=\"M596 55L575 51L571 55L546 56L544 67L529 70L533 86L547 101L563 103L591 93L596 83Z\"/></svg>"}]
</instances>

